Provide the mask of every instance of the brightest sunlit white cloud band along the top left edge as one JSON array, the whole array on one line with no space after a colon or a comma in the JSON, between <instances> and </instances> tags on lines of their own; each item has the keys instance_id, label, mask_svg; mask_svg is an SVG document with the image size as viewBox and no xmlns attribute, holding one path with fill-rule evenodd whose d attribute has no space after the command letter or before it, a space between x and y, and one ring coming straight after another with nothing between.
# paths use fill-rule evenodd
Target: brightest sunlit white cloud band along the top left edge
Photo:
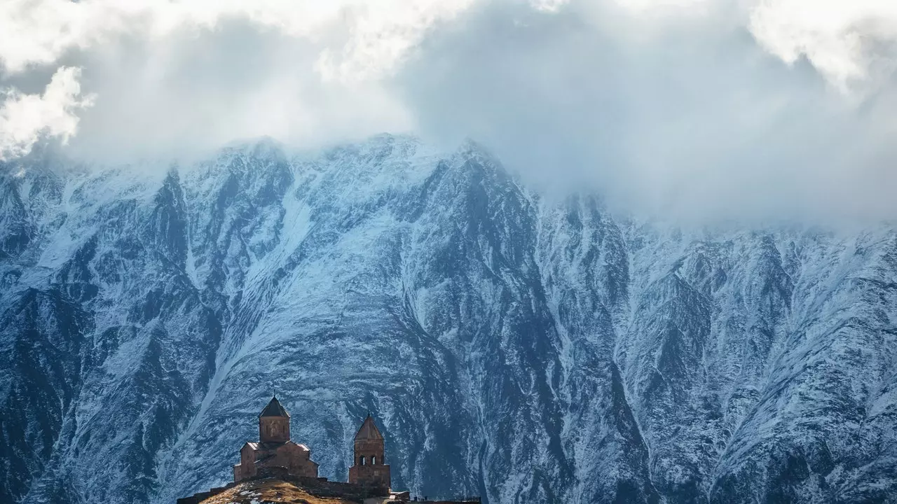
<instances>
[{"instance_id":1,"label":"brightest sunlit white cloud band along the top left edge","mask_svg":"<svg viewBox=\"0 0 897 504\"><path fill-rule=\"evenodd\" d=\"M73 48L141 32L158 41L209 30L229 19L320 44L329 74L376 76L392 69L434 23L474 0L6 0L0 4L0 61L8 72L52 64ZM334 37L334 33L340 36Z\"/></svg>"}]
</instances>

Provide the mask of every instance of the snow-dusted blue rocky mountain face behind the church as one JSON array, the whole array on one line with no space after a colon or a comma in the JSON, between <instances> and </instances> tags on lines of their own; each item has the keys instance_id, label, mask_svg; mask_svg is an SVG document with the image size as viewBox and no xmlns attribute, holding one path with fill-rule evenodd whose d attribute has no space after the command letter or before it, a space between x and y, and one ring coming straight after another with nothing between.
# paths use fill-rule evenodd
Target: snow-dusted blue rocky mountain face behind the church
<instances>
[{"instance_id":1,"label":"snow-dusted blue rocky mountain face behind the church","mask_svg":"<svg viewBox=\"0 0 897 504\"><path fill-rule=\"evenodd\" d=\"M344 480L488 502L897 494L897 233L548 203L466 144L4 165L0 501L227 482L273 391ZM32 166L33 165L33 166Z\"/></svg>"}]
</instances>

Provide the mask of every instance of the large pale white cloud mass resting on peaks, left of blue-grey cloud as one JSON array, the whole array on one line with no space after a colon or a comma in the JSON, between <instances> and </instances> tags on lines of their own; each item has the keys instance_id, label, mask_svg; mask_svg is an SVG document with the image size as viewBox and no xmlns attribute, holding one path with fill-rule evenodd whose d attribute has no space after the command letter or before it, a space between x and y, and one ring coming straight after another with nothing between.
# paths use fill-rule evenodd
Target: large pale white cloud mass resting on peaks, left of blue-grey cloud
<instances>
[{"instance_id":1,"label":"large pale white cloud mass resting on peaks, left of blue-grey cloud","mask_svg":"<svg viewBox=\"0 0 897 504\"><path fill-rule=\"evenodd\" d=\"M309 146L412 127L380 81L473 2L7 0L0 68L83 67L97 100L79 155L181 155L259 135Z\"/></svg>"}]
</instances>

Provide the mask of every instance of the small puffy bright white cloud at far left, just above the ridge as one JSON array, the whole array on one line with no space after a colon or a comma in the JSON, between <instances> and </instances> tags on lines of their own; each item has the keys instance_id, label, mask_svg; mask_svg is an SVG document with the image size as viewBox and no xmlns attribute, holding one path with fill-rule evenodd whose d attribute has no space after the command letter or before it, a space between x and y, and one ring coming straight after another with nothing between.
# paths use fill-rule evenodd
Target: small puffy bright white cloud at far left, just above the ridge
<instances>
[{"instance_id":1,"label":"small puffy bright white cloud at far left, just above the ridge","mask_svg":"<svg viewBox=\"0 0 897 504\"><path fill-rule=\"evenodd\" d=\"M40 135L67 142L78 129L79 109L90 107L93 97L82 96L81 69L60 67L43 94L6 90L0 107L0 161L27 154Z\"/></svg>"}]
</instances>

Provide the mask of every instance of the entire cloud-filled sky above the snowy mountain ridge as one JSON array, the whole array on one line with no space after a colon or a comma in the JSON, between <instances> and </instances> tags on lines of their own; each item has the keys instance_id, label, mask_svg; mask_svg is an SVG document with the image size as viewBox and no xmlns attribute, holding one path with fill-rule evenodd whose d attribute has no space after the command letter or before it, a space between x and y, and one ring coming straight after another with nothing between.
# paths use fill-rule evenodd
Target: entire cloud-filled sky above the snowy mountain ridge
<instances>
[{"instance_id":1,"label":"entire cloud-filled sky above the snowy mountain ridge","mask_svg":"<svg viewBox=\"0 0 897 504\"><path fill-rule=\"evenodd\" d=\"M0 157L483 143L646 213L897 218L893 0L0 2Z\"/></svg>"}]
</instances>

